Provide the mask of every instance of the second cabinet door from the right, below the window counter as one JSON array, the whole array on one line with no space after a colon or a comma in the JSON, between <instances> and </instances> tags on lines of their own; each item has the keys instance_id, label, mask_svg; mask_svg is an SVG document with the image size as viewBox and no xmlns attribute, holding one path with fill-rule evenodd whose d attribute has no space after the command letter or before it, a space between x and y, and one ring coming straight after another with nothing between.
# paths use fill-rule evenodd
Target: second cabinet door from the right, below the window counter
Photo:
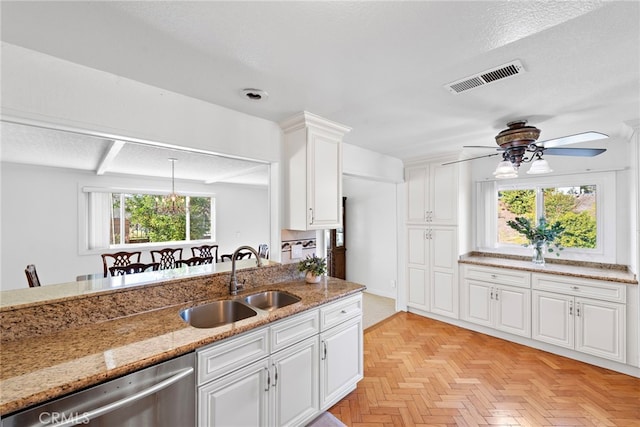
<instances>
[{"instance_id":1,"label":"second cabinet door from the right, below the window counter","mask_svg":"<svg viewBox=\"0 0 640 427\"><path fill-rule=\"evenodd\" d=\"M532 298L532 337L538 341L573 349L573 297L533 291Z\"/></svg>"}]
</instances>

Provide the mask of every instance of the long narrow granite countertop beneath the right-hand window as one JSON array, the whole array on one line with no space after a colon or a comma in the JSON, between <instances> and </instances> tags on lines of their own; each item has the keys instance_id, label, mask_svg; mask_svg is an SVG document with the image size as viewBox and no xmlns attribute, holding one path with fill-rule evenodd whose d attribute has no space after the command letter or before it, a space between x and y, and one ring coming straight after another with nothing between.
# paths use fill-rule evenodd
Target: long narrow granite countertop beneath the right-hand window
<instances>
[{"instance_id":1,"label":"long narrow granite countertop beneath the right-hand window","mask_svg":"<svg viewBox=\"0 0 640 427\"><path fill-rule=\"evenodd\" d=\"M534 273L550 273L562 276L582 277L585 279L607 280L610 282L637 285L636 276L626 266L589 262L567 262L548 259L544 265L536 265L531 259L518 256L472 252L458 260L461 264L474 264L486 267L502 267Z\"/></svg>"}]
</instances>

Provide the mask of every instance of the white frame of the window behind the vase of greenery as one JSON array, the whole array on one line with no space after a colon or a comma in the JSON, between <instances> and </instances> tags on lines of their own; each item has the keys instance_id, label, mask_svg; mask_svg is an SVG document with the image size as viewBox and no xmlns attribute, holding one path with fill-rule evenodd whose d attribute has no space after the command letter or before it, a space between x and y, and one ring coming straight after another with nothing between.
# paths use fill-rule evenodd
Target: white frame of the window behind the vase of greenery
<instances>
[{"instance_id":1,"label":"white frame of the window behind the vase of greenery","mask_svg":"<svg viewBox=\"0 0 640 427\"><path fill-rule=\"evenodd\" d=\"M542 188L596 186L595 248L565 248L560 259L615 263L616 260L616 175L614 172L567 174L478 182L476 185L476 248L482 252L530 256L522 245L498 242L498 192L501 190L536 191L536 212L540 212L538 195ZM536 216L539 216L536 214ZM554 255L553 258L556 258Z\"/></svg>"}]
</instances>

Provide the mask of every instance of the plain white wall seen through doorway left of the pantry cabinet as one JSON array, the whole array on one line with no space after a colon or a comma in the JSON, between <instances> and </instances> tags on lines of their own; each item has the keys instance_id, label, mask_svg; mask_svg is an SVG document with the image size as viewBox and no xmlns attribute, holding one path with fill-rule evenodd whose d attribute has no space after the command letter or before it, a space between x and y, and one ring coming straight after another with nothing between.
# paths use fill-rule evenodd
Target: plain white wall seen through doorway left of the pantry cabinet
<instances>
[{"instance_id":1,"label":"plain white wall seen through doorway left of the pantry cabinet","mask_svg":"<svg viewBox=\"0 0 640 427\"><path fill-rule=\"evenodd\" d=\"M395 183L344 177L347 280L396 298L398 242ZM394 282L396 287L391 283Z\"/></svg>"}]
</instances>

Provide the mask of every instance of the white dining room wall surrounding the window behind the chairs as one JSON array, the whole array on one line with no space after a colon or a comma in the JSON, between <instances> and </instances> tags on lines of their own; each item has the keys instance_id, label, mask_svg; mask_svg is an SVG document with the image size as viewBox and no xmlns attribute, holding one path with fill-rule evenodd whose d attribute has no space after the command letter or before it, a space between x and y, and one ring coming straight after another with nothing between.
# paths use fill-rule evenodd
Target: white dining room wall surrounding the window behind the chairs
<instances>
[{"instance_id":1,"label":"white dining room wall surrounding the window behind the chairs","mask_svg":"<svg viewBox=\"0 0 640 427\"><path fill-rule=\"evenodd\" d=\"M167 184L162 179L96 176L90 172L2 163L0 290L26 287L27 264L36 265L43 284L70 282L77 275L102 271L98 253L79 253L78 202L82 186L162 190L168 188ZM267 188L181 181L176 181L176 188L215 195L220 253L244 244L269 242ZM192 245L185 246L187 252L183 256L190 256L188 248ZM150 261L151 257L143 253L143 259Z\"/></svg>"}]
</instances>

